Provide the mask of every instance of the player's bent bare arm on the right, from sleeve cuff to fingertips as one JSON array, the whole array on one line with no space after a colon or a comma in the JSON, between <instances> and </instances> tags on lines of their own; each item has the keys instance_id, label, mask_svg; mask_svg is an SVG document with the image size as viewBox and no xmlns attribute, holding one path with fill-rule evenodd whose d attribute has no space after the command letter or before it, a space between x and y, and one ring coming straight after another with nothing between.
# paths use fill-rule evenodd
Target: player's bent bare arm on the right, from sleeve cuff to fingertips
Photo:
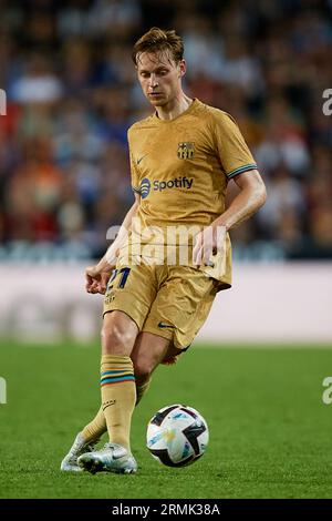
<instances>
[{"instance_id":1,"label":"player's bent bare arm on the right, from sleeve cuff to fingertips","mask_svg":"<svg viewBox=\"0 0 332 521\"><path fill-rule=\"evenodd\" d=\"M266 202L267 191L257 170L232 177L239 188L229 207L214 223L196 236L193 252L194 264L208 264L212 254L225 244L226 234L251 217Z\"/></svg>"}]
</instances>

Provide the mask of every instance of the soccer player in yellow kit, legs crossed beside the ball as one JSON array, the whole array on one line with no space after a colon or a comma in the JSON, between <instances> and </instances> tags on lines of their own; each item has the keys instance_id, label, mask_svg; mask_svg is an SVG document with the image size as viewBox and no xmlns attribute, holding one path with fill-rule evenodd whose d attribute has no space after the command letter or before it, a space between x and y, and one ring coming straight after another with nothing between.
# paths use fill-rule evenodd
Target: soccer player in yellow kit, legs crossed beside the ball
<instances>
[{"instance_id":1,"label":"soccer player in yellow kit, legs crossed beside the ball","mask_svg":"<svg viewBox=\"0 0 332 521\"><path fill-rule=\"evenodd\" d=\"M62 470L137 470L129 445L135 405L154 369L174 362L190 346L217 292L230 287L228 232L266 201L264 184L234 119L183 91L180 37L153 28L134 45L133 60L154 113L128 131L135 202L105 256L86 269L86 290L105 294L102 406L76 436ZM230 180L239 191L226 210ZM139 234L139 226L149 234ZM194 238L169 235L172 226L194 227ZM172 255L165 245L174 247ZM184 248L189 255L180 262ZM106 430L110 441L94 450Z\"/></svg>"}]
</instances>

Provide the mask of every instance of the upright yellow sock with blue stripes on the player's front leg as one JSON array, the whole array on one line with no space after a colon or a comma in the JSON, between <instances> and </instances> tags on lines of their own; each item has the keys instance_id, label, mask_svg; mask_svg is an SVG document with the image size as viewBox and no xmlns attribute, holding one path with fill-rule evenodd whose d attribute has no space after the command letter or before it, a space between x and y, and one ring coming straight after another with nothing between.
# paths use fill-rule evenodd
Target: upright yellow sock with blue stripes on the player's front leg
<instances>
[{"instance_id":1,"label":"upright yellow sock with blue stripes on the player's front leg","mask_svg":"<svg viewBox=\"0 0 332 521\"><path fill-rule=\"evenodd\" d=\"M104 355L101 366L102 408L110 441L131 451L131 421L136 401L134 367L128 356Z\"/></svg>"}]
</instances>

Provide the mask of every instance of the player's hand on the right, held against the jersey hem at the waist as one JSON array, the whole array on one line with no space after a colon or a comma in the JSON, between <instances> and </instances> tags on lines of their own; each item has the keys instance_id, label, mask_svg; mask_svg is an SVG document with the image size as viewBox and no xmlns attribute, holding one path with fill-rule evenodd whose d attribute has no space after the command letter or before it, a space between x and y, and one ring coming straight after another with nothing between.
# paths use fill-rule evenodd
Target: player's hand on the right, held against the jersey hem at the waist
<instances>
[{"instance_id":1,"label":"player's hand on the right, held against the jersey hem at the waist","mask_svg":"<svg viewBox=\"0 0 332 521\"><path fill-rule=\"evenodd\" d=\"M195 266L211 266L212 255L222 252L226 239L226 226L211 224L196 235L193 249Z\"/></svg>"}]
</instances>

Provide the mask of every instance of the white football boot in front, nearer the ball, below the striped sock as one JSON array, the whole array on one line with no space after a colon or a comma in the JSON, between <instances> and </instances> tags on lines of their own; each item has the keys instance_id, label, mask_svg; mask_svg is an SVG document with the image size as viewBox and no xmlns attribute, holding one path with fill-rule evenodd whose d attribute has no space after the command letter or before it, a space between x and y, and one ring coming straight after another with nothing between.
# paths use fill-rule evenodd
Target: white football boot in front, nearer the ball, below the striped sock
<instances>
[{"instance_id":1,"label":"white football boot in front, nearer the ball, below the striped sock","mask_svg":"<svg viewBox=\"0 0 332 521\"><path fill-rule=\"evenodd\" d=\"M115 472L132 474L137 471L135 458L121 445L105 443L102 450L86 452L77 459L79 466L95 474L96 472Z\"/></svg>"}]
</instances>

